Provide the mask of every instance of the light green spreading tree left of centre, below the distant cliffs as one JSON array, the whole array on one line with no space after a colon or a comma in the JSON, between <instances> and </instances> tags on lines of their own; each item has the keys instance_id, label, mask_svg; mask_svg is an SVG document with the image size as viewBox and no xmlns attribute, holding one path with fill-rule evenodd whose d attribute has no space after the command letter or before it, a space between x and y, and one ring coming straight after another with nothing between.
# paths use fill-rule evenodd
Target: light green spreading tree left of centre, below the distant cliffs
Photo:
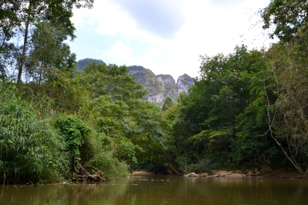
<instances>
[{"instance_id":1,"label":"light green spreading tree left of centre, below the distant cliffs","mask_svg":"<svg viewBox=\"0 0 308 205\"><path fill-rule=\"evenodd\" d=\"M91 115L98 132L112 138L114 156L129 162L159 156L168 125L160 108L140 101L146 91L128 72L125 66L94 63L80 76L91 93L84 113Z\"/></svg>"}]
</instances>

